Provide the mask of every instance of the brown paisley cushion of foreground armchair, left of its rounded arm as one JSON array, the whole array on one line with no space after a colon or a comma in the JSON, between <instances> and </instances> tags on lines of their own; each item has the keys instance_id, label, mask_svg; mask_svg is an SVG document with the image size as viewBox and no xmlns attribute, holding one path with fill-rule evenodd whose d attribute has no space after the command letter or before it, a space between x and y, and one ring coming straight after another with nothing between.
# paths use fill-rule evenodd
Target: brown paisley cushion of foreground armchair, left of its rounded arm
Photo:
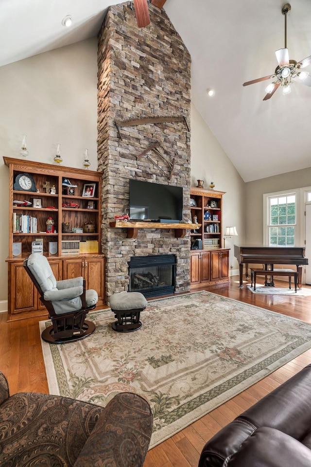
<instances>
[{"instance_id":1,"label":"brown paisley cushion of foreground armchair, left of its rounded arm","mask_svg":"<svg viewBox=\"0 0 311 467\"><path fill-rule=\"evenodd\" d=\"M56 395L12 395L0 405L0 465L72 467L103 411Z\"/></svg>"}]
</instances>

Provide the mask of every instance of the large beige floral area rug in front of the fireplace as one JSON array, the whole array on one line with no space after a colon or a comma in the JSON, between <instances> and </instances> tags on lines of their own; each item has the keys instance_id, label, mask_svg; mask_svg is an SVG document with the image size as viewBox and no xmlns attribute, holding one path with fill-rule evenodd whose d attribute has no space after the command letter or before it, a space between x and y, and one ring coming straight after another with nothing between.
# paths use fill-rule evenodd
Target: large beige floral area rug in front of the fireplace
<instances>
[{"instance_id":1,"label":"large beige floral area rug in front of the fireplace","mask_svg":"<svg viewBox=\"0 0 311 467\"><path fill-rule=\"evenodd\" d=\"M101 406L122 391L145 397L150 448L311 348L311 324L206 291L150 301L140 318L118 333L110 309L95 311L92 335L42 348L51 394Z\"/></svg>"}]
</instances>

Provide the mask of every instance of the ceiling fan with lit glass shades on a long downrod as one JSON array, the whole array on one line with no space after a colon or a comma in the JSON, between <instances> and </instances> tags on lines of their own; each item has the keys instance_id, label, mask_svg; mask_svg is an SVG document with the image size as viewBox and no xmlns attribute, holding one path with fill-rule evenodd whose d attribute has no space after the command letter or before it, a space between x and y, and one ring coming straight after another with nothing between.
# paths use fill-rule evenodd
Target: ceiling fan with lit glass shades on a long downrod
<instances>
[{"instance_id":1,"label":"ceiling fan with lit glass shades on a long downrod","mask_svg":"<svg viewBox=\"0 0 311 467\"><path fill-rule=\"evenodd\" d=\"M287 40L286 40L286 20L287 14L291 11L292 7L289 3L282 8L282 15L285 17L285 47L284 49L279 49L276 51L276 60L278 66L274 74L269 76L264 76L263 78L253 79L252 81L247 81L243 83L243 86L248 86L250 84L259 83L259 81L265 81L266 79L273 79L273 82L270 83L265 91L266 95L263 98L264 101L270 99L273 94L276 92L277 88L281 86L283 88L283 94L289 94L291 92L291 84L294 82L295 78L299 78L298 81L306 86L311 86L311 76L309 72L301 72L300 69L304 68L311 64L311 55L299 62L289 59L288 49L287 49Z\"/></svg>"}]
</instances>

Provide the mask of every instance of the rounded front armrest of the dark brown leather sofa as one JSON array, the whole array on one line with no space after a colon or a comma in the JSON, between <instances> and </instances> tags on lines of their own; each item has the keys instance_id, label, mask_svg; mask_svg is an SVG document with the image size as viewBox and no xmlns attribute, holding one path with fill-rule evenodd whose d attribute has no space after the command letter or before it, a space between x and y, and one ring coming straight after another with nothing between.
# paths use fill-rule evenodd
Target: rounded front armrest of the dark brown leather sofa
<instances>
[{"instance_id":1,"label":"rounded front armrest of the dark brown leather sofa","mask_svg":"<svg viewBox=\"0 0 311 467\"><path fill-rule=\"evenodd\" d=\"M311 450L274 428L254 432L228 462L227 467L310 467Z\"/></svg>"}]
</instances>

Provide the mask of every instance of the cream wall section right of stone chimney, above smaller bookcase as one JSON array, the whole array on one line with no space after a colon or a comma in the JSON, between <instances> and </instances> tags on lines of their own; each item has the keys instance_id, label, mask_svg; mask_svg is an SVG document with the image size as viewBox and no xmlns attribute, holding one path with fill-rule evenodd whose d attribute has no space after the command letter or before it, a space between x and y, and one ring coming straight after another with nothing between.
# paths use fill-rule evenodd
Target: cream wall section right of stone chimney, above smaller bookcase
<instances>
[{"instance_id":1,"label":"cream wall section right of stone chimney, above smaller bookcase","mask_svg":"<svg viewBox=\"0 0 311 467\"><path fill-rule=\"evenodd\" d=\"M244 242L245 225L245 183L228 159L223 148L204 122L198 110L191 106L191 186L197 180L204 181L204 188L213 177L214 190L225 191L223 196L223 226L236 226L239 236L226 238L225 246L230 248L231 274L239 273L234 257L233 245Z\"/></svg>"}]
</instances>

